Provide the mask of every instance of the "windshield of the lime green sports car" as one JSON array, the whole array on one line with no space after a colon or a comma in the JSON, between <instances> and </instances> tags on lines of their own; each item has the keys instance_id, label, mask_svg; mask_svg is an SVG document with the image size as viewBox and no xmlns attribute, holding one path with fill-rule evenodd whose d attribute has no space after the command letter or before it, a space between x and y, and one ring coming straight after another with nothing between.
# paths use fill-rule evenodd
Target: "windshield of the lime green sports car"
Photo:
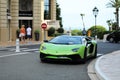
<instances>
[{"instance_id":1,"label":"windshield of the lime green sports car","mask_svg":"<svg viewBox=\"0 0 120 80\"><path fill-rule=\"evenodd\" d=\"M54 44L82 44L81 37L78 36L58 36L49 42Z\"/></svg>"}]
</instances>

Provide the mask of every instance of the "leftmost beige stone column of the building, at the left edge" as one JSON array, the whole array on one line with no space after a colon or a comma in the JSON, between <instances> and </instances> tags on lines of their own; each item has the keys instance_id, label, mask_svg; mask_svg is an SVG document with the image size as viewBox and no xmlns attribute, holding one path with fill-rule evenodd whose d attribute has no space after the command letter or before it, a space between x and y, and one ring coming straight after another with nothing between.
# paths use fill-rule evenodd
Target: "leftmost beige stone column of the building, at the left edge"
<instances>
[{"instance_id":1,"label":"leftmost beige stone column of the building, at the left edge","mask_svg":"<svg viewBox=\"0 0 120 80\"><path fill-rule=\"evenodd\" d=\"M8 41L7 0L0 0L0 41Z\"/></svg>"}]
</instances>

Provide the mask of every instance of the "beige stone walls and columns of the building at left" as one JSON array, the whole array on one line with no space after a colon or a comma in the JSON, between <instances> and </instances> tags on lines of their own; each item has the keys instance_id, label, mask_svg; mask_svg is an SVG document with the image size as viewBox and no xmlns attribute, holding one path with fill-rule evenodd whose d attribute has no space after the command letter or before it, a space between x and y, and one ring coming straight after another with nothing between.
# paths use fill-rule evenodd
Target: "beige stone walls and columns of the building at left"
<instances>
[{"instance_id":1,"label":"beige stone walls and columns of the building at left","mask_svg":"<svg viewBox=\"0 0 120 80\"><path fill-rule=\"evenodd\" d=\"M0 0L0 42L15 41L16 30L19 29L19 0L10 0L10 19L7 16L8 0ZM33 0L33 39L34 31L40 30L40 41L44 39L41 24L44 20L44 0ZM51 0L51 20L56 21L56 0ZM47 23L47 22L46 22ZM48 25L49 27L49 25ZM47 37L47 31L46 31Z\"/></svg>"}]
</instances>

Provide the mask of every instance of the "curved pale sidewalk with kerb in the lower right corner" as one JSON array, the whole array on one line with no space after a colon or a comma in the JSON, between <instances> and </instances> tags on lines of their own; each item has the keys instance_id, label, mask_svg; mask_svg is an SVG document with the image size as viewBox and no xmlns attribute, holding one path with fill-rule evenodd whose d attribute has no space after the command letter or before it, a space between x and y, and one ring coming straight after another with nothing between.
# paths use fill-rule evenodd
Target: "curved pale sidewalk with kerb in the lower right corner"
<instances>
[{"instance_id":1,"label":"curved pale sidewalk with kerb in the lower right corner","mask_svg":"<svg viewBox=\"0 0 120 80\"><path fill-rule=\"evenodd\" d=\"M95 72L100 80L120 80L120 50L99 57Z\"/></svg>"}]
</instances>

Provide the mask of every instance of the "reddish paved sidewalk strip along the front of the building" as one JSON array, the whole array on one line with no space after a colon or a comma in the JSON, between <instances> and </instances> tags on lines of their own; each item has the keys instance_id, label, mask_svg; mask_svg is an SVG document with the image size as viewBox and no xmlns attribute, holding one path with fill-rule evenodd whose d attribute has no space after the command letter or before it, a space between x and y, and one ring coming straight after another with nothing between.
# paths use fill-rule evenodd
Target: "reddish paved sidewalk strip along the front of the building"
<instances>
[{"instance_id":1,"label":"reddish paved sidewalk strip along the front of the building","mask_svg":"<svg viewBox=\"0 0 120 80\"><path fill-rule=\"evenodd\" d=\"M20 42L20 45L34 45L40 44L40 41L25 41L24 43ZM8 46L16 46L16 41L8 41L8 42L0 42L0 48L8 47Z\"/></svg>"}]
</instances>

